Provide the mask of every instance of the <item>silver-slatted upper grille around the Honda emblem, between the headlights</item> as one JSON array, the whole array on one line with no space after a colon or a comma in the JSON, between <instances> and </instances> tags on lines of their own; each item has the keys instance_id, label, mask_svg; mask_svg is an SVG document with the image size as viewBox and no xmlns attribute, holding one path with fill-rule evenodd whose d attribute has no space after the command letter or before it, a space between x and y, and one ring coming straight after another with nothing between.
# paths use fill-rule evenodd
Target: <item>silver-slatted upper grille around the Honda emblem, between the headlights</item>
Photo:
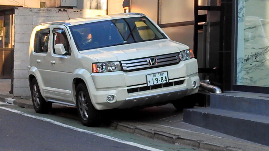
<instances>
[{"instance_id":1,"label":"silver-slatted upper grille around the Honda emblem, between the headlights","mask_svg":"<svg viewBox=\"0 0 269 151\"><path fill-rule=\"evenodd\" d=\"M150 66L148 65L148 58L155 57L158 61L157 65ZM178 64L180 61L179 59L179 53L171 53L167 55L161 55L161 56L152 56L152 57L145 57L145 58L139 58L139 59L133 59L133 60L124 60L121 61L122 70L125 72L129 71L137 71L137 70L144 70L144 69L151 69L156 67L163 67L163 66L169 66L172 64Z\"/></svg>"}]
</instances>

